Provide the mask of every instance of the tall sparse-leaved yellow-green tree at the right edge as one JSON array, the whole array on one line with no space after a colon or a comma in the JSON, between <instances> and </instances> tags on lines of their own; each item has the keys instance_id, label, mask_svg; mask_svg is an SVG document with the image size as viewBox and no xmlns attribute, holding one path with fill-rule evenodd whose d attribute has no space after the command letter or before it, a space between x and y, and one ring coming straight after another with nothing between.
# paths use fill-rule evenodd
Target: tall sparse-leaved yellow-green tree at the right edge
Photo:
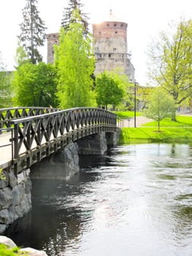
<instances>
[{"instance_id":1,"label":"tall sparse-leaved yellow-green tree at the right edge","mask_svg":"<svg viewBox=\"0 0 192 256\"><path fill-rule=\"evenodd\" d=\"M192 94L192 20L181 20L169 29L150 46L150 77L180 105ZM175 110L172 120L176 120Z\"/></svg>"}]
</instances>

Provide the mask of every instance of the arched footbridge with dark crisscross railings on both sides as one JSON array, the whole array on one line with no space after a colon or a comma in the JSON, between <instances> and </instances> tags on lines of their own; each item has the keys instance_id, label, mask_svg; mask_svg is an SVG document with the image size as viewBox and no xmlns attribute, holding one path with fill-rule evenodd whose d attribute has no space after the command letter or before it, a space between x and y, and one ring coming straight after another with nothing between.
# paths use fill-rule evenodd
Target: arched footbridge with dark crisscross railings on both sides
<instances>
[{"instance_id":1,"label":"arched footbridge with dark crisscross railings on both sides","mask_svg":"<svg viewBox=\"0 0 192 256\"><path fill-rule=\"evenodd\" d=\"M100 108L0 109L0 168L17 175L75 140L118 129L117 116Z\"/></svg>"}]
</instances>

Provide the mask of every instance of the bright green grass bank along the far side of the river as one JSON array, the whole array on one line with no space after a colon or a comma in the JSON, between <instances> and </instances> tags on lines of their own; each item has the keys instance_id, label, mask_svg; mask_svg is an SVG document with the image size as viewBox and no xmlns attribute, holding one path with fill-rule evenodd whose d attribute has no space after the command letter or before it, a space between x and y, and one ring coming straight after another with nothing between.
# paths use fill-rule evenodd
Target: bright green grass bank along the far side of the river
<instances>
[{"instance_id":1,"label":"bright green grass bank along the far side of the river","mask_svg":"<svg viewBox=\"0 0 192 256\"><path fill-rule=\"evenodd\" d=\"M160 122L160 132L156 121L138 128L123 128L119 143L192 143L192 117L177 116L177 121L166 118Z\"/></svg>"}]
</instances>

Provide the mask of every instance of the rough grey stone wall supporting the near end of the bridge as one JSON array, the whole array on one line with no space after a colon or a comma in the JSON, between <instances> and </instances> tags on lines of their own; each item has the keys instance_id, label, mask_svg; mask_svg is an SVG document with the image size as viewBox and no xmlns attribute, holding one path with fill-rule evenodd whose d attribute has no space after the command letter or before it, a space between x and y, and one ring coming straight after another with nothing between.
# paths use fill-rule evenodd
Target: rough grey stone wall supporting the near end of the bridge
<instances>
[{"instance_id":1,"label":"rough grey stone wall supporting the near end of the bridge","mask_svg":"<svg viewBox=\"0 0 192 256\"><path fill-rule=\"evenodd\" d=\"M0 179L0 233L16 219L31 209L30 170L23 170L18 177L9 170Z\"/></svg>"}]
</instances>

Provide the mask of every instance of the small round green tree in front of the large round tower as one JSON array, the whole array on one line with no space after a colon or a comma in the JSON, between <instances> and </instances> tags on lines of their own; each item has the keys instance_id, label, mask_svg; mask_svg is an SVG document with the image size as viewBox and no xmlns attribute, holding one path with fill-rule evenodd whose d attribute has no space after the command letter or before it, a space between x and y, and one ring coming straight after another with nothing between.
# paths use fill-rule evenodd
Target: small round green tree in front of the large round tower
<instances>
[{"instance_id":1,"label":"small round green tree in front of the large round tower","mask_svg":"<svg viewBox=\"0 0 192 256\"><path fill-rule=\"evenodd\" d=\"M120 86L120 80L112 78L107 72L103 72L96 77L96 102L104 105L107 109L109 104L117 106L123 99L125 90Z\"/></svg>"}]
</instances>

